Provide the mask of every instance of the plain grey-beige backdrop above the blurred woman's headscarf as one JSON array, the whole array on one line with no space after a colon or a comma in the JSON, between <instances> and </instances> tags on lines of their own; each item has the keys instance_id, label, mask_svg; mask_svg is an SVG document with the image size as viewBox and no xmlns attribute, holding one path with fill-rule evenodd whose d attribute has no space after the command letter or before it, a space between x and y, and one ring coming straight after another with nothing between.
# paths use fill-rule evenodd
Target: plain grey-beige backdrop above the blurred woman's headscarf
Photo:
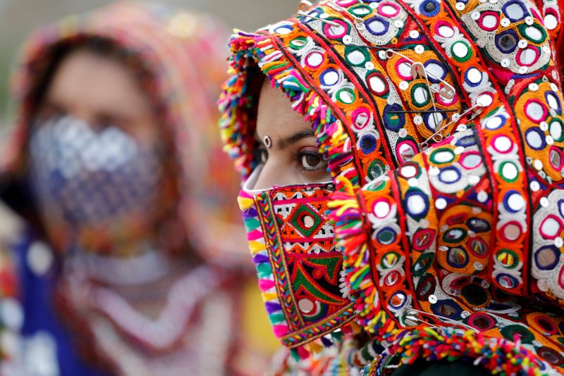
<instances>
[{"instance_id":1,"label":"plain grey-beige backdrop above the blurred woman's headscarf","mask_svg":"<svg viewBox=\"0 0 564 376\"><path fill-rule=\"evenodd\" d=\"M20 45L36 27L66 15L111 4L107 0L0 0L0 127L6 130L7 83ZM231 28L255 30L295 13L298 0L168 0L160 1L212 13Z\"/></svg>"}]
</instances>

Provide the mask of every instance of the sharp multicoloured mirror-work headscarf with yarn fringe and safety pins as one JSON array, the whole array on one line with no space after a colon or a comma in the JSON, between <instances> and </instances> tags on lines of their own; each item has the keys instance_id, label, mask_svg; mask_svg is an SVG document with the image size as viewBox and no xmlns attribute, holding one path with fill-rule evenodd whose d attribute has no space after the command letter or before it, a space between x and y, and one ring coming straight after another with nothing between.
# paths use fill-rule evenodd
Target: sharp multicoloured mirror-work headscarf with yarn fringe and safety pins
<instances>
[{"instance_id":1,"label":"sharp multicoloured mirror-work headscarf with yarn fringe and safety pins","mask_svg":"<svg viewBox=\"0 0 564 376\"><path fill-rule=\"evenodd\" d=\"M555 372L556 1L303 10L233 36L221 129L245 179L258 163L254 67L312 123L339 191L330 207L358 322L386 348L359 363L473 358L508 375Z\"/></svg>"}]
</instances>

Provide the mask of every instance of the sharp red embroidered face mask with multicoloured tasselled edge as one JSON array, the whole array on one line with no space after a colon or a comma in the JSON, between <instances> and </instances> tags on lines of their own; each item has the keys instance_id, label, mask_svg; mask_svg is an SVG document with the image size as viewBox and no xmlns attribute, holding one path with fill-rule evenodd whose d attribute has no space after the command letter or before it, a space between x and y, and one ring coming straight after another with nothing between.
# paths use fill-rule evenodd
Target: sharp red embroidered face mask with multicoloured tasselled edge
<instances>
[{"instance_id":1,"label":"sharp red embroidered face mask with multicoloured tasselled edge","mask_svg":"<svg viewBox=\"0 0 564 376\"><path fill-rule=\"evenodd\" d=\"M240 192L247 237L274 334L300 346L353 317L341 284L343 256L325 213L332 183L250 189Z\"/></svg>"}]
</instances>

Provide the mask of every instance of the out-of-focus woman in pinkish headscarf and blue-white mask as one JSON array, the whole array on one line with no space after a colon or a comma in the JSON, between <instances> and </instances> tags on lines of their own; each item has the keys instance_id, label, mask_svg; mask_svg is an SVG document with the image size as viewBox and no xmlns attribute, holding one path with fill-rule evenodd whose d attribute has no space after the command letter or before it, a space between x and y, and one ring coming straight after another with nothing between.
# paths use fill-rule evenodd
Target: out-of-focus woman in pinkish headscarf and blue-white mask
<instances>
[{"instance_id":1,"label":"out-of-focus woman in pinkish headscarf and blue-white mask","mask_svg":"<svg viewBox=\"0 0 564 376\"><path fill-rule=\"evenodd\" d=\"M248 296L236 183L211 127L223 35L206 15L120 3L25 46L1 177L25 220L6 249L6 372L260 372L233 314Z\"/></svg>"}]
</instances>

